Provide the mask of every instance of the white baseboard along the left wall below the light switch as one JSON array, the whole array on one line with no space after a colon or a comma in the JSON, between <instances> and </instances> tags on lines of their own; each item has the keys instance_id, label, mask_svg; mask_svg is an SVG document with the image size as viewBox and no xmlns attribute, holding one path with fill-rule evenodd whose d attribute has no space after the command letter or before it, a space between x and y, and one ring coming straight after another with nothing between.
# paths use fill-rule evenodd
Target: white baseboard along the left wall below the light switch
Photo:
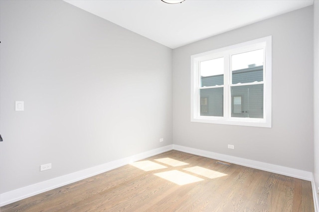
<instances>
[{"instance_id":1,"label":"white baseboard along the left wall below the light switch","mask_svg":"<svg viewBox=\"0 0 319 212\"><path fill-rule=\"evenodd\" d=\"M47 181L43 181L37 184L33 184L30 186L26 186L23 188L19 188L13 191L9 191L3 194L0 194L0 206L5 206L10 203L14 203L16 201L61 187L65 186L70 183L74 183L80 180L83 180L85 178L89 178L98 174L101 174L103 172L127 165L129 163L132 163L134 161L142 160L144 158L148 158L163 152L167 152L169 150L172 150L172 145L167 145L164 147L160 147L157 149L153 149L147 152L143 152L140 154L136 154L127 158L122 158L119 160L111 161L99 166L95 166L92 168L88 168L85 170L81 170L78 172L74 172L68 175L64 175L61 177L57 177L54 179L50 179Z\"/></svg>"}]
</instances>

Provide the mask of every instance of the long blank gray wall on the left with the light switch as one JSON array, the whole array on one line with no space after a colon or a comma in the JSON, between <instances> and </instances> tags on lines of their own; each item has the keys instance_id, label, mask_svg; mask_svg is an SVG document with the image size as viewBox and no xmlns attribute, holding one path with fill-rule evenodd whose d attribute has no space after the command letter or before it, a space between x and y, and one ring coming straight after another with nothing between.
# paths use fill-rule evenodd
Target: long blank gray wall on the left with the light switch
<instances>
[{"instance_id":1,"label":"long blank gray wall on the left with the light switch","mask_svg":"<svg viewBox=\"0 0 319 212\"><path fill-rule=\"evenodd\" d=\"M1 193L172 144L171 49L64 1L0 3Z\"/></svg>"}]
</instances>

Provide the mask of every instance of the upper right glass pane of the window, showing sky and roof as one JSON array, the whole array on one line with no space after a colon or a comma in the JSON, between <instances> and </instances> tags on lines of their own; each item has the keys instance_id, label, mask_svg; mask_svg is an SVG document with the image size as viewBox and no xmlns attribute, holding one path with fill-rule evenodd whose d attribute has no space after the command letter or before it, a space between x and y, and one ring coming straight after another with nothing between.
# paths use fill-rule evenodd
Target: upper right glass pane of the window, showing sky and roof
<instances>
[{"instance_id":1,"label":"upper right glass pane of the window, showing sky and roof","mask_svg":"<svg viewBox=\"0 0 319 212\"><path fill-rule=\"evenodd\" d=\"M264 49L232 55L232 84L263 81Z\"/></svg>"}]
</instances>

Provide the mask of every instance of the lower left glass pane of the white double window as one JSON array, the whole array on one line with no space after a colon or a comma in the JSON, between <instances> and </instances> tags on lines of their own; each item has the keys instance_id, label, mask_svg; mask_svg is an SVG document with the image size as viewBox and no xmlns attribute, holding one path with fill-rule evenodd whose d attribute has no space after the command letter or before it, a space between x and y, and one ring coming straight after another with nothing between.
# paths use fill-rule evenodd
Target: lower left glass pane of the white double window
<instances>
[{"instance_id":1,"label":"lower left glass pane of the white double window","mask_svg":"<svg viewBox=\"0 0 319 212\"><path fill-rule=\"evenodd\" d=\"M200 115L224 115L224 88L211 88L200 90Z\"/></svg>"}]
</instances>

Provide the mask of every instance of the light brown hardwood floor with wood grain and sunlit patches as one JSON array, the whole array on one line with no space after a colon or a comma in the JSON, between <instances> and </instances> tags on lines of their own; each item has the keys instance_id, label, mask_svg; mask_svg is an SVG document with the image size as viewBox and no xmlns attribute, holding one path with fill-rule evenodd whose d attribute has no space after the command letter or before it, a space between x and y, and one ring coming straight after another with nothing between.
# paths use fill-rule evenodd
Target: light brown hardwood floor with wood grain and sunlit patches
<instances>
[{"instance_id":1,"label":"light brown hardwood floor with wood grain and sunlit patches","mask_svg":"<svg viewBox=\"0 0 319 212\"><path fill-rule=\"evenodd\" d=\"M172 150L0 210L314 212L314 203L309 181Z\"/></svg>"}]
</instances>

